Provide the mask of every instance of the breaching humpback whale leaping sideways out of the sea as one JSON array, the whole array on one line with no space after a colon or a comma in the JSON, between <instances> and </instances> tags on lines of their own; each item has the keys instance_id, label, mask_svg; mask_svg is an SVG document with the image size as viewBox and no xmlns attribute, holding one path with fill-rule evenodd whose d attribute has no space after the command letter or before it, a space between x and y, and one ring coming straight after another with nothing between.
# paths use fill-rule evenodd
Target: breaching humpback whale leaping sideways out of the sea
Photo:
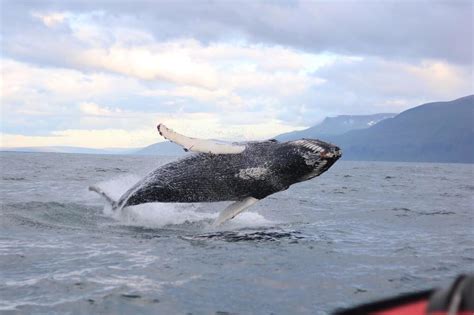
<instances>
[{"instance_id":1,"label":"breaching humpback whale leaping sideways out of the sea","mask_svg":"<svg viewBox=\"0 0 474 315\"><path fill-rule=\"evenodd\" d=\"M215 220L220 225L258 200L321 175L342 154L337 146L315 139L228 143L186 137L163 124L157 129L196 154L155 169L117 201L100 187L89 187L114 210L148 202L234 201Z\"/></svg>"}]
</instances>

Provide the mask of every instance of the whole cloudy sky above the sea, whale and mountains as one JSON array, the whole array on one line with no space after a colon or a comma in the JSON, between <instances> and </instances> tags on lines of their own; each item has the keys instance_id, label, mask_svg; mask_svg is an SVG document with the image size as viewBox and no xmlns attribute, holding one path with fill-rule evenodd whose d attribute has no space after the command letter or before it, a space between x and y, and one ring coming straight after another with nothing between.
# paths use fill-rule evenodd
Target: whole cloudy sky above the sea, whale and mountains
<instances>
[{"instance_id":1,"label":"whole cloudy sky above the sea, whale and mountains","mask_svg":"<svg viewBox=\"0 0 474 315\"><path fill-rule=\"evenodd\" d=\"M2 147L266 139L474 91L469 0L0 2Z\"/></svg>"}]
</instances>

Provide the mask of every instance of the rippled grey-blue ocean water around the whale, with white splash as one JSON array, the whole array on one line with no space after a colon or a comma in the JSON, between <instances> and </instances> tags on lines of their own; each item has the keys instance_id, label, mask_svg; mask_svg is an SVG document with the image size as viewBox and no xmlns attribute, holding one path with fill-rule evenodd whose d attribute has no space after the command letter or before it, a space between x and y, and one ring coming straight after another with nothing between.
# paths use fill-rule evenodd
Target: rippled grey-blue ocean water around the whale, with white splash
<instances>
[{"instance_id":1,"label":"rippled grey-blue ocean water around the whale, with white splash","mask_svg":"<svg viewBox=\"0 0 474 315\"><path fill-rule=\"evenodd\" d=\"M0 152L5 314L326 314L474 271L473 165L339 161L227 203L118 198L162 157Z\"/></svg>"}]
</instances>

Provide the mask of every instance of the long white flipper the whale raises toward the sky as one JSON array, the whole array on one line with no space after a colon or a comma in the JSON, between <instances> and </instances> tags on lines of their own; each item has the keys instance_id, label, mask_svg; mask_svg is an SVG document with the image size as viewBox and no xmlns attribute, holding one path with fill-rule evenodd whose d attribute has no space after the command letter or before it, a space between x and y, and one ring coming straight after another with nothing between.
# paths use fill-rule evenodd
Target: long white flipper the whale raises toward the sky
<instances>
[{"instance_id":1,"label":"long white flipper the whale raises toward the sky","mask_svg":"<svg viewBox=\"0 0 474 315\"><path fill-rule=\"evenodd\" d=\"M174 132L163 124L159 124L157 126L157 129L160 135L182 146L184 148L184 151L213 154L238 154L245 150L245 145L241 144L189 138L177 132Z\"/></svg>"}]
</instances>

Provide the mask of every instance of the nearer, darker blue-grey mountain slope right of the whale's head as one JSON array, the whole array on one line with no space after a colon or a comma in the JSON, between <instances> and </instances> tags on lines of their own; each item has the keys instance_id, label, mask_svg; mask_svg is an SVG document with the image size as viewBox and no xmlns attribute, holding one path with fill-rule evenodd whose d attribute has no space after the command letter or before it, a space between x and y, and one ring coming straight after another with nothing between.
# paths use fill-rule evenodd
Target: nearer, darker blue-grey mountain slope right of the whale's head
<instances>
[{"instance_id":1,"label":"nearer, darker blue-grey mountain slope right of the whale's head","mask_svg":"<svg viewBox=\"0 0 474 315\"><path fill-rule=\"evenodd\" d=\"M474 162L474 95L411 108L363 130L328 136L349 160Z\"/></svg>"}]
</instances>

